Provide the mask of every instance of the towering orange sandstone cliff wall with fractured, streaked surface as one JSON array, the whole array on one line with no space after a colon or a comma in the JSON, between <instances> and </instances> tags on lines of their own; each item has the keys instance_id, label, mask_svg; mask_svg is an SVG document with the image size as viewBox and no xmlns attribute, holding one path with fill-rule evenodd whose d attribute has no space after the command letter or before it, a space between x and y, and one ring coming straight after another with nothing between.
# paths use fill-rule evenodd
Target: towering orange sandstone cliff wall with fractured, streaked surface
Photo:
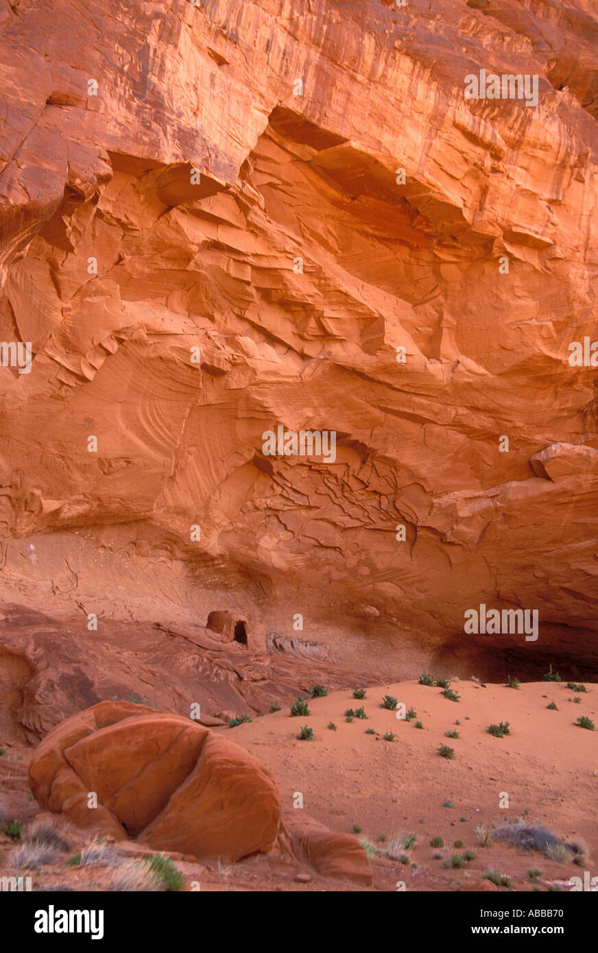
<instances>
[{"instance_id":1,"label":"towering orange sandstone cliff wall with fractured, streaked surface","mask_svg":"<svg viewBox=\"0 0 598 953\"><path fill-rule=\"evenodd\" d=\"M0 340L31 368L0 367L0 597L300 614L393 658L537 608L595 672L597 29L593 0L2 0ZM537 105L466 99L482 70ZM266 454L278 427L335 452Z\"/></svg>"}]
</instances>

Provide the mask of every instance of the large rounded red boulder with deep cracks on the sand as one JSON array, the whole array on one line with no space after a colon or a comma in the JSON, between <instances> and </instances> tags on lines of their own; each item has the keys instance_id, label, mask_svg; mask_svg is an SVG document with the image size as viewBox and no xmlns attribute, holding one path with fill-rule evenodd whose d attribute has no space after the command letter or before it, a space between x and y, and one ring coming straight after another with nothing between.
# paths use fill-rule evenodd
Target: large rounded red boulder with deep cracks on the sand
<instances>
[{"instance_id":1,"label":"large rounded red boulder with deep cracks on the sand","mask_svg":"<svg viewBox=\"0 0 598 953\"><path fill-rule=\"evenodd\" d=\"M102 702L62 722L35 751L29 777L42 809L156 850L237 861L269 850L278 832L277 785L258 760L144 705Z\"/></svg>"}]
</instances>

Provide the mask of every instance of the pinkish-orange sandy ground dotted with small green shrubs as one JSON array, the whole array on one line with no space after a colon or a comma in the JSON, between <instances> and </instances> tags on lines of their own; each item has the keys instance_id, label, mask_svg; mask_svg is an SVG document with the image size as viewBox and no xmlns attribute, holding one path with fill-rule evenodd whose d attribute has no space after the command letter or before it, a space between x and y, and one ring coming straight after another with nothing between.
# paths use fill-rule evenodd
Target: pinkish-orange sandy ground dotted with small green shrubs
<instances>
[{"instance_id":1,"label":"pinkish-orange sandy ground dotted with small green shrubs","mask_svg":"<svg viewBox=\"0 0 598 953\"><path fill-rule=\"evenodd\" d=\"M564 683L544 681L514 690L454 680L451 688L461 697L457 702L445 699L442 689L417 681L363 687L363 700L355 700L349 690L331 692L308 700L309 716L290 717L285 704L275 714L217 731L234 738L273 771L283 804L298 804L300 795L302 809L332 830L361 828L356 836L372 841L377 851L372 857L375 890L396 890L397 883L400 887L404 883L407 890L494 890L482 879L488 868L508 875L516 890L547 889L555 884L567 889L567 878L583 878L584 869L596 876L598 732L575 724L581 715L598 724L595 685L588 684L579 703ZM394 711L382 708L384 695L415 709L417 718L401 720ZM547 709L552 700L558 711ZM367 720L347 722L345 709L360 706ZM417 720L423 728L416 727ZM331 721L336 731L328 728ZM487 733L487 726L499 721L510 723L509 736L494 738ZM298 739L301 725L313 729L313 740ZM367 734L367 729L375 734ZM449 730L458 731L460 737L445 737ZM384 740L384 733L392 733L394 740ZM439 755L441 744L454 749L452 760ZM28 749L15 747L7 758L21 759L18 763L23 768L29 754ZM7 761L3 761L6 770ZM37 807L25 788L16 790L13 797L22 799L24 820L34 815ZM543 824L567 841L581 841L586 846L585 862L581 866L554 862L505 843L481 846L478 825L516 817ZM393 839L409 835L415 835L415 845L401 850L401 860L399 850L391 850L392 858L386 856ZM432 847L433 838L442 838L443 847ZM14 872L13 849L8 838L0 839L2 875ZM72 849L80 849L76 838ZM136 849L131 845L130 852ZM475 858L461 869L444 865L464 849L472 850ZM32 872L34 882L69 885L75 890L105 888L110 871L67 866L68 856ZM194 881L202 890L367 889L324 880L308 865L289 862L276 853L234 865L197 864L180 855L174 859L185 877L185 889ZM527 875L531 868L543 872L534 882Z\"/></svg>"}]
</instances>

